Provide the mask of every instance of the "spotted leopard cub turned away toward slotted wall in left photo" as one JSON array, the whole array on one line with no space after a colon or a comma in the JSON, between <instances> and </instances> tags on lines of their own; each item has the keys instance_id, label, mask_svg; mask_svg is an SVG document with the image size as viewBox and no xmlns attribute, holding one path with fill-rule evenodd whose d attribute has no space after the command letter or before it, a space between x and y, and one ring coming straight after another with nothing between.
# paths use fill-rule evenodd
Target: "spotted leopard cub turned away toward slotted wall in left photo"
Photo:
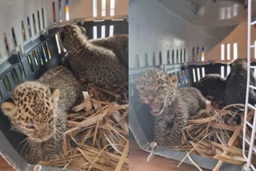
<instances>
[{"instance_id":1,"label":"spotted leopard cub turned away toward slotted wall in left photo","mask_svg":"<svg viewBox=\"0 0 256 171\"><path fill-rule=\"evenodd\" d=\"M64 26L60 38L68 53L70 69L79 79L98 85L126 85L128 66L112 50L91 43L81 27Z\"/></svg>"}]
</instances>

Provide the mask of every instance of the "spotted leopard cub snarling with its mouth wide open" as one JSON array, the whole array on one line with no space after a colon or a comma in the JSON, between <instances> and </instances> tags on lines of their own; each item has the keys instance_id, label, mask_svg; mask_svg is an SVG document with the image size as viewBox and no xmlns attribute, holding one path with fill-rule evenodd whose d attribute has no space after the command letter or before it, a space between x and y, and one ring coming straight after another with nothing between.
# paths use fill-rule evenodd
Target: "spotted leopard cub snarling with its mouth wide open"
<instances>
[{"instance_id":1,"label":"spotted leopard cub snarling with its mouth wide open","mask_svg":"<svg viewBox=\"0 0 256 171\"><path fill-rule=\"evenodd\" d=\"M182 129L190 115L205 109L206 99L198 89L177 88L177 77L159 69L150 69L138 79L137 88L143 103L154 116L154 141L160 145L180 145ZM167 125L173 123L168 129Z\"/></svg>"}]
</instances>

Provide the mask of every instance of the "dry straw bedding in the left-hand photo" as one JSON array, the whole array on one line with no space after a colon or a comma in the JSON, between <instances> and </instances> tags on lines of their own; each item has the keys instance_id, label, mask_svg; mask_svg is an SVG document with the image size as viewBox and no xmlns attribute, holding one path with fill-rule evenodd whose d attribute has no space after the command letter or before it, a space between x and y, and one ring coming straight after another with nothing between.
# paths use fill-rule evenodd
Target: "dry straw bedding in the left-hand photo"
<instances>
[{"instance_id":1,"label":"dry straw bedding in the left-hand photo","mask_svg":"<svg viewBox=\"0 0 256 171\"><path fill-rule=\"evenodd\" d=\"M64 157L41 164L75 170L128 170L127 94L122 86L86 85L85 100L68 115Z\"/></svg>"}]
</instances>

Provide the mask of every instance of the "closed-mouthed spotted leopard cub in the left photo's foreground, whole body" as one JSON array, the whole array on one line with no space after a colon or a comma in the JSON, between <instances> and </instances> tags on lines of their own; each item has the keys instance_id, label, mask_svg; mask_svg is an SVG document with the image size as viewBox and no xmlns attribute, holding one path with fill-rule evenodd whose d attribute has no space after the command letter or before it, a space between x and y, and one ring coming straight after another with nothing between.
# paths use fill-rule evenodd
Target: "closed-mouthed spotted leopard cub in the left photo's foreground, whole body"
<instances>
[{"instance_id":1,"label":"closed-mouthed spotted leopard cub in the left photo's foreground, whole body","mask_svg":"<svg viewBox=\"0 0 256 171\"><path fill-rule=\"evenodd\" d=\"M66 114L81 96L77 80L63 66L56 66L36 82L18 85L12 102L1 105L12 127L27 136L24 157L30 164L62 157ZM22 154L23 155L23 154Z\"/></svg>"}]
</instances>

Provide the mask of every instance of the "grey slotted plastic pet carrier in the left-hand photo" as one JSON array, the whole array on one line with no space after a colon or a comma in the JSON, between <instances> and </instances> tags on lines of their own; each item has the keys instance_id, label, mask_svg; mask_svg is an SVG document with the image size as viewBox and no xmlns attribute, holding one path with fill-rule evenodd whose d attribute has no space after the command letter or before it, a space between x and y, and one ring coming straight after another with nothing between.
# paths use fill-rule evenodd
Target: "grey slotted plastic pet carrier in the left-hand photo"
<instances>
[{"instance_id":1,"label":"grey slotted plastic pet carrier in the left-hand photo","mask_svg":"<svg viewBox=\"0 0 256 171\"><path fill-rule=\"evenodd\" d=\"M88 38L128 34L128 0L21 0L0 2L0 103L26 80L37 79L64 54L58 31L77 22ZM33 170L18 153L25 136L0 113L0 153L17 170ZM42 170L58 168L41 167Z\"/></svg>"}]
</instances>

